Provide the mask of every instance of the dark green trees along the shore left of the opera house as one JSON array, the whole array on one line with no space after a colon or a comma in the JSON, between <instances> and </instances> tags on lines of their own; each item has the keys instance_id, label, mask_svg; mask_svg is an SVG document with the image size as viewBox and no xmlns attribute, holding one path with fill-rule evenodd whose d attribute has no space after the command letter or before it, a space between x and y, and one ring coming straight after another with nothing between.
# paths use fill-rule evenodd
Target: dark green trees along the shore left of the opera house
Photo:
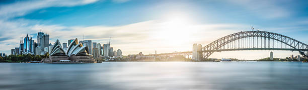
<instances>
[{"instance_id":1,"label":"dark green trees along the shore left of the opera house","mask_svg":"<svg viewBox=\"0 0 308 90\"><path fill-rule=\"evenodd\" d=\"M43 58L49 58L49 53L44 55L35 55L35 54L10 54L9 56L0 56L0 62L28 62L28 61L40 61Z\"/></svg>"}]
</instances>

